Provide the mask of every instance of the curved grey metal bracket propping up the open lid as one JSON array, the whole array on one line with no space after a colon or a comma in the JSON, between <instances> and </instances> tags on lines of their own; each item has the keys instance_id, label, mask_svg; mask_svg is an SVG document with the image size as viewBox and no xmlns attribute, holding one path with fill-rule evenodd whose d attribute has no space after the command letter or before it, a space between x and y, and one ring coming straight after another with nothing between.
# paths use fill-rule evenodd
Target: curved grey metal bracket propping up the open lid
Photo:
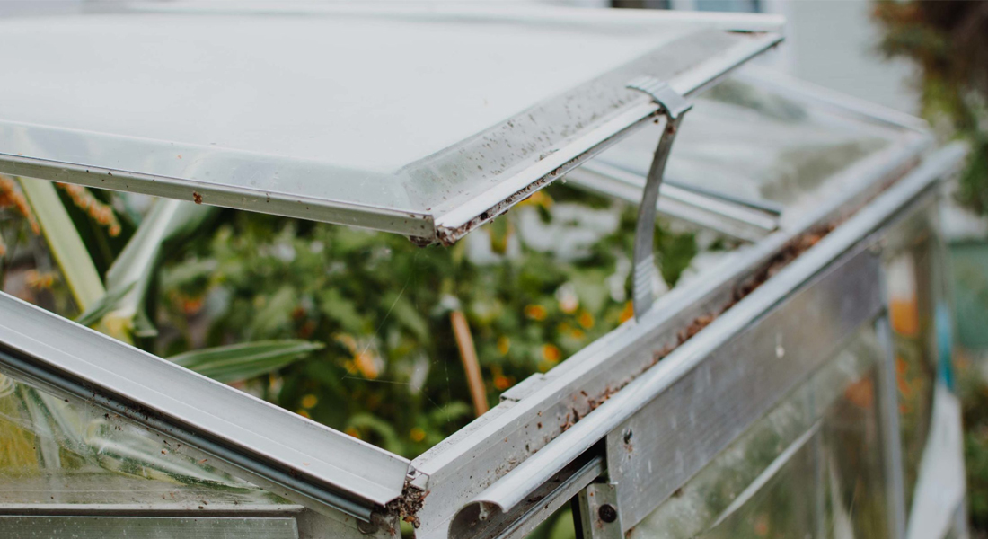
<instances>
[{"instance_id":1,"label":"curved grey metal bracket propping up the open lid","mask_svg":"<svg viewBox=\"0 0 988 539\"><path fill-rule=\"evenodd\" d=\"M641 194L641 205L638 207L638 222L634 230L634 281L632 283L632 301L634 317L638 319L648 312L655 302L652 290L652 279L655 275L655 253L653 241L655 238L656 203L659 200L659 187L666 170L666 161L673 147L673 141L679 132L680 123L693 104L678 94L665 82L654 77L640 77L627 84L632 90L644 92L651 96L659 105L659 112L666 117L666 129L659 138L659 145L652 157L652 166L645 178L645 189Z\"/></svg>"}]
</instances>

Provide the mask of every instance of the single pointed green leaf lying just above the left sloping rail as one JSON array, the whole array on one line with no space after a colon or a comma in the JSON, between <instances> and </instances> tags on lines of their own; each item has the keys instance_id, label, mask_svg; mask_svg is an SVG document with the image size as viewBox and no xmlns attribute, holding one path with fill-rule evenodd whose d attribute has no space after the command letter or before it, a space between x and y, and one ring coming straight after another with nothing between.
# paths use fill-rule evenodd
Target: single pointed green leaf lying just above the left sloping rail
<instances>
[{"instance_id":1,"label":"single pointed green leaf lying just above the left sloping rail","mask_svg":"<svg viewBox=\"0 0 988 539\"><path fill-rule=\"evenodd\" d=\"M228 384L277 371L322 346L306 340L264 340L193 350L168 359Z\"/></svg>"}]
</instances>

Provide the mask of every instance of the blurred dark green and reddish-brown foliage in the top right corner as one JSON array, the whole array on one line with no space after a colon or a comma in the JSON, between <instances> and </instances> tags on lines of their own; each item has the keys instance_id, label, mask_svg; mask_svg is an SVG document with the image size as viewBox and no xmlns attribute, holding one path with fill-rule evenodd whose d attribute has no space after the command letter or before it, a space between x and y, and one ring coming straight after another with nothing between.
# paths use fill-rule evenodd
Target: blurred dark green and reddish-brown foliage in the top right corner
<instances>
[{"instance_id":1,"label":"blurred dark green and reddish-brown foliage in the top right corner","mask_svg":"<svg viewBox=\"0 0 988 539\"><path fill-rule=\"evenodd\" d=\"M874 16L881 51L920 69L923 116L970 144L958 197L988 214L988 3L884 0Z\"/></svg>"}]
</instances>

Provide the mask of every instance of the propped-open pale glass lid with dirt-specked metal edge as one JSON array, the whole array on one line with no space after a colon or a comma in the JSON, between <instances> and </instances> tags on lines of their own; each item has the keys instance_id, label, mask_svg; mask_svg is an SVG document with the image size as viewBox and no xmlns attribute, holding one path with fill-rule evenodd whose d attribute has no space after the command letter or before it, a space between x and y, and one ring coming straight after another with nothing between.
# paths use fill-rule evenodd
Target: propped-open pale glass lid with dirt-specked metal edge
<instances>
[{"instance_id":1,"label":"propped-open pale glass lid with dirt-specked metal edge","mask_svg":"<svg viewBox=\"0 0 988 539\"><path fill-rule=\"evenodd\" d=\"M689 94L780 39L719 15L98 11L0 21L0 171L446 243L650 120L631 79Z\"/></svg>"}]
</instances>

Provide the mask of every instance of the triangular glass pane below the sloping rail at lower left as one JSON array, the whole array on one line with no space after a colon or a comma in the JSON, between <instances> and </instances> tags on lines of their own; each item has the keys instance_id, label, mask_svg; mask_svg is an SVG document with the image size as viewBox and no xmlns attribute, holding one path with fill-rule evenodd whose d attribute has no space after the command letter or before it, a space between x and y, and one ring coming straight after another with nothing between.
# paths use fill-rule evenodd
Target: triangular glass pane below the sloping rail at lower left
<instances>
[{"instance_id":1,"label":"triangular glass pane below the sloping rail at lower left","mask_svg":"<svg viewBox=\"0 0 988 539\"><path fill-rule=\"evenodd\" d=\"M181 509L288 503L106 409L0 374L0 507L112 503Z\"/></svg>"}]
</instances>

